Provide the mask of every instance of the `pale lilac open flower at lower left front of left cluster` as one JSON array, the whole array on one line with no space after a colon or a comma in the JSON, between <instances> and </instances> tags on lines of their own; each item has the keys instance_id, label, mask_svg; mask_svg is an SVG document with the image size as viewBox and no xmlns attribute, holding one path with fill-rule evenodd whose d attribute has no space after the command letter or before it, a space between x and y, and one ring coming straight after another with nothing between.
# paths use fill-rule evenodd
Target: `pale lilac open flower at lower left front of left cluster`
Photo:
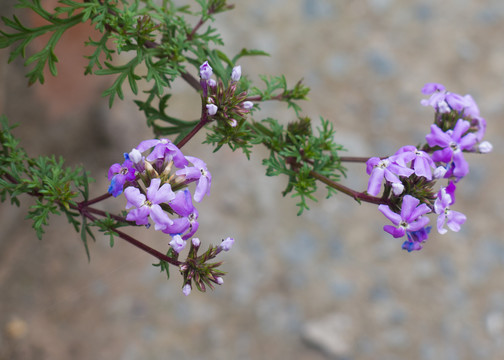
<instances>
[{"instance_id":1,"label":"pale lilac open flower at lower left front of left cluster","mask_svg":"<svg viewBox=\"0 0 504 360\"><path fill-rule=\"evenodd\" d=\"M124 190L124 196L128 200L126 209L135 207L135 209L130 210L126 220L135 221L137 225L147 225L149 223L148 217L150 217L156 230L163 230L173 223L159 204L174 199L175 194L171 190L170 184L163 184L163 186L159 187L160 183L160 179L151 180L147 188L147 197L133 186Z\"/></svg>"}]
</instances>

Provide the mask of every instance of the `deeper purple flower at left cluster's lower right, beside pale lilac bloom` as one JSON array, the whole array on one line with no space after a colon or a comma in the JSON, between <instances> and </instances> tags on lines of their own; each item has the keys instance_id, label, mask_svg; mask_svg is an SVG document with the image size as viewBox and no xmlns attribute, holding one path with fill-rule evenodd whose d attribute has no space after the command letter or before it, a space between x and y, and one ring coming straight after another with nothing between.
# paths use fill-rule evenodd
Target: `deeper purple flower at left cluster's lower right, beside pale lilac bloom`
<instances>
[{"instance_id":1,"label":"deeper purple flower at left cluster's lower right, beside pale lilac bloom","mask_svg":"<svg viewBox=\"0 0 504 360\"><path fill-rule=\"evenodd\" d=\"M163 232L170 235L182 235L186 231L187 234L182 236L182 239L187 240L193 236L198 230L198 210L193 206L191 193L185 189L177 192L175 198L168 203L172 210L179 215L178 219L173 219L173 223L168 225Z\"/></svg>"}]
</instances>

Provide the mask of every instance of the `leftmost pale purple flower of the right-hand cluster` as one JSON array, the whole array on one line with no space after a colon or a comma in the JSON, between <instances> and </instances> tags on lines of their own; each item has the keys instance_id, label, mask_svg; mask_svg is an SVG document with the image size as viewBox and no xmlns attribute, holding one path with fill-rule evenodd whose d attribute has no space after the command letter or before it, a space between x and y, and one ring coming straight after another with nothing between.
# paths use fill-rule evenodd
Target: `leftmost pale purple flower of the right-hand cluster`
<instances>
[{"instance_id":1,"label":"leftmost pale purple flower of the right-hand cluster","mask_svg":"<svg viewBox=\"0 0 504 360\"><path fill-rule=\"evenodd\" d=\"M367 192L376 196L380 192L383 178L390 183L401 183L398 176L409 177L414 170L395 163L391 158L380 160L372 157L366 162L366 172L370 175Z\"/></svg>"}]
</instances>

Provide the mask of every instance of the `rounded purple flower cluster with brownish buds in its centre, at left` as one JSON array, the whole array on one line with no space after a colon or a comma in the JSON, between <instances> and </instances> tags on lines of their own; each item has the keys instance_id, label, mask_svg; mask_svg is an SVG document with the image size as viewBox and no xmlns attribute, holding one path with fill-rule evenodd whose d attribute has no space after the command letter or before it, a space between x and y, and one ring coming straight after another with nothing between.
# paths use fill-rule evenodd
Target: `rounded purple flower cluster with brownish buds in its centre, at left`
<instances>
[{"instance_id":1,"label":"rounded purple flower cluster with brownish buds in its centre, at left","mask_svg":"<svg viewBox=\"0 0 504 360\"><path fill-rule=\"evenodd\" d=\"M108 172L108 192L124 193L126 220L171 236L169 245L177 254L198 230L198 210L193 204L210 195L212 175L205 162L182 151L168 139L142 141L124 154L123 164ZM188 185L195 183L194 194ZM193 242L199 239L193 238Z\"/></svg>"}]
</instances>

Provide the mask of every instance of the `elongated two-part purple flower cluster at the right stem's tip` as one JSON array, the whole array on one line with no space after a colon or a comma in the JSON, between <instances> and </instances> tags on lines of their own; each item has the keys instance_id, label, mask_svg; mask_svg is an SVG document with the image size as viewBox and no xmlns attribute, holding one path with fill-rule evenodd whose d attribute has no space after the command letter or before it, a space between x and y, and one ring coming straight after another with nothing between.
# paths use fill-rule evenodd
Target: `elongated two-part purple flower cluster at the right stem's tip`
<instances>
[{"instance_id":1,"label":"elongated two-part purple flower cluster at the right stem's tip","mask_svg":"<svg viewBox=\"0 0 504 360\"><path fill-rule=\"evenodd\" d=\"M406 235L402 248L409 252L422 249L427 240L431 227L425 215L429 213L437 215L440 234L447 232L445 226L460 230L466 216L451 210L451 206L455 203L455 184L469 173L464 153L492 150L489 142L482 141L486 121L470 95L450 93L436 83L426 84L422 93L430 98L421 104L436 111L425 137L427 144L421 148L403 146L392 156L372 157L366 162L367 193L377 196L385 183L382 199L387 205L378 209L393 225L383 229L395 238ZM441 179L448 184L435 192L433 186Z\"/></svg>"}]
</instances>

